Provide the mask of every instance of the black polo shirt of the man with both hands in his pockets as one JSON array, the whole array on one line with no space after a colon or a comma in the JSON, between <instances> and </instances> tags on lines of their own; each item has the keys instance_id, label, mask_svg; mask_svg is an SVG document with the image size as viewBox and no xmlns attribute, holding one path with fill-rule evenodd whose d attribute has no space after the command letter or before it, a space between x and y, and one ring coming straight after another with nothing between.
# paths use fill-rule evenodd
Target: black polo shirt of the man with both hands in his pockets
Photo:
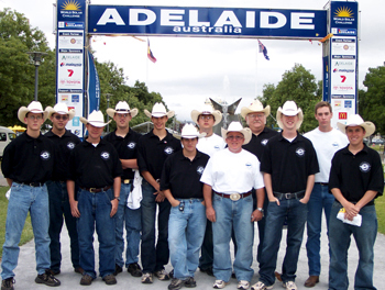
<instances>
[{"instance_id":1,"label":"black polo shirt of the man with both hands in his pockets","mask_svg":"<svg viewBox=\"0 0 385 290\"><path fill-rule=\"evenodd\" d=\"M273 191L287 193L306 190L308 177L319 171L316 150L311 142L298 133L293 142L280 133L268 141L261 171L272 175Z\"/></svg>"}]
</instances>

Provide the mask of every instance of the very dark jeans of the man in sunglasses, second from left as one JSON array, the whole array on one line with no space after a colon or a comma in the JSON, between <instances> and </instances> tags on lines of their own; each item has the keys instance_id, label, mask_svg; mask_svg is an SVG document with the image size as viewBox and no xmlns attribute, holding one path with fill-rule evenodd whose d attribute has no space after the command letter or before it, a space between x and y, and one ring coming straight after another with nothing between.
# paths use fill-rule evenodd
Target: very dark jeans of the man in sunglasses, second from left
<instances>
[{"instance_id":1,"label":"very dark jeans of the man in sunglasses, second from left","mask_svg":"<svg viewBox=\"0 0 385 290\"><path fill-rule=\"evenodd\" d=\"M61 232L63 222L66 222L70 239L70 260L73 267L77 268L79 264L79 242L76 231L76 217L70 213L68 192L66 182L47 181L50 199L50 250L51 250L51 269L59 270L62 265L61 254Z\"/></svg>"}]
</instances>

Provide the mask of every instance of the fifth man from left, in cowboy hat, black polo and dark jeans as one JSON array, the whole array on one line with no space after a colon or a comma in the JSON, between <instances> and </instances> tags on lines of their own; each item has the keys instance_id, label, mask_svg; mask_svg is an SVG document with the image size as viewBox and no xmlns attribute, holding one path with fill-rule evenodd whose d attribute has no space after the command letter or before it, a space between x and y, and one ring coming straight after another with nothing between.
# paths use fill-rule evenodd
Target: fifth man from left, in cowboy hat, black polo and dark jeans
<instances>
[{"instance_id":1,"label":"fifth man from left, in cowboy hat, black polo and dark jeans","mask_svg":"<svg viewBox=\"0 0 385 290\"><path fill-rule=\"evenodd\" d=\"M154 104L152 112L144 110L151 118L154 129L143 135L138 143L138 166L142 181L142 246L141 260L143 267L142 283L152 283L153 274L160 280L168 280L164 266L168 263L168 215L170 204L160 188L162 169L166 158L180 150L180 141L166 130L166 122L174 111L166 111L163 103ZM157 238L155 223L157 214ZM155 243L156 242L156 243Z\"/></svg>"}]
</instances>

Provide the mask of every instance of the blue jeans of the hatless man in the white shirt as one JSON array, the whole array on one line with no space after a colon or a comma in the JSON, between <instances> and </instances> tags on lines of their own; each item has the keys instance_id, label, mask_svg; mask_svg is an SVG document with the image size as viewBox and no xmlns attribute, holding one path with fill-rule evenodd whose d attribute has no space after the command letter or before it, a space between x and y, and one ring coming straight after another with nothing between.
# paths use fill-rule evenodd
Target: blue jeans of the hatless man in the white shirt
<instances>
[{"instance_id":1,"label":"blue jeans of the hatless man in the white shirt","mask_svg":"<svg viewBox=\"0 0 385 290\"><path fill-rule=\"evenodd\" d=\"M329 235L329 217L331 205L334 202L333 194L329 193L328 186L315 183L310 200L308 202L308 220L306 250L308 256L309 276L319 276L321 274L321 230L322 230L322 209L327 219L327 234Z\"/></svg>"}]
</instances>

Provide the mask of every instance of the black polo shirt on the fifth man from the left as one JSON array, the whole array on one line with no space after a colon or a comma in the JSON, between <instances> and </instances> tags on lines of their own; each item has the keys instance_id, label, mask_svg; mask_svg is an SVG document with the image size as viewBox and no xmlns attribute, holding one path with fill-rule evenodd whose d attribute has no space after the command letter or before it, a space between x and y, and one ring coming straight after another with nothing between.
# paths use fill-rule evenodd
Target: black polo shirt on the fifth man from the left
<instances>
[{"instance_id":1,"label":"black polo shirt on the fifth man from the left","mask_svg":"<svg viewBox=\"0 0 385 290\"><path fill-rule=\"evenodd\" d=\"M180 141L175 138L173 134L167 132L167 135L161 141L151 131L141 136L138 143L139 170L141 172L148 171L154 179L160 179L166 158L180 149Z\"/></svg>"}]
</instances>

